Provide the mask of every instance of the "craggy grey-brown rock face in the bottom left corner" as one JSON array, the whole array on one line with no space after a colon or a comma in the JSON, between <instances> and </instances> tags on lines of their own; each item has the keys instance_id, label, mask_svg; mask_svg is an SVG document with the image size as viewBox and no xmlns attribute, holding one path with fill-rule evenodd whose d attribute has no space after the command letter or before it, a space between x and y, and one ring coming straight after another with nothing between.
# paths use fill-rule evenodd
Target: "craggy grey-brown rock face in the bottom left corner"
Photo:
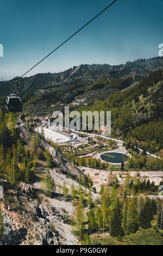
<instances>
[{"instance_id":1,"label":"craggy grey-brown rock face in the bottom left corner","mask_svg":"<svg viewBox=\"0 0 163 256\"><path fill-rule=\"evenodd\" d=\"M5 184L3 181L1 184ZM77 245L78 240L71 233L71 226L65 222L65 210L55 209L53 202L41 203L31 196L35 191L18 188L4 189L4 199L0 203L4 217L4 236L0 245ZM51 199L53 201L53 199ZM55 200L55 204L60 204ZM62 204L61 204L62 205ZM67 205L64 202L64 205ZM74 210L71 204L67 206Z\"/></svg>"}]
</instances>

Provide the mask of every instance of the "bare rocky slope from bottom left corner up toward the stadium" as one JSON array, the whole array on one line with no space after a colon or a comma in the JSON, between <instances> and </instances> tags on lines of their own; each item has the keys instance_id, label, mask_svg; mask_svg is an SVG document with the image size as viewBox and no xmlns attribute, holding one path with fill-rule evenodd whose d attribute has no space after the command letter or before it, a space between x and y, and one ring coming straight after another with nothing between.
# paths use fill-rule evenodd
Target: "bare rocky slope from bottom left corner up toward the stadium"
<instances>
[{"instance_id":1,"label":"bare rocky slope from bottom left corner up toward the stadium","mask_svg":"<svg viewBox=\"0 0 163 256\"><path fill-rule=\"evenodd\" d=\"M17 129L21 139L29 147L30 132L21 119ZM72 183L78 188L78 176L83 171L75 167L46 141L39 147L48 149L52 155L51 177L55 182L52 198L46 197L41 190L41 176L46 173L45 161L39 160L36 175L31 184L20 182L11 186L9 182L0 180L4 196L0 206L4 218L4 233L0 245L78 245L77 237L72 234L70 219L74 218L75 205L70 195L65 199L58 185L70 187ZM83 187L84 190L84 187ZM93 198L96 194L92 192Z\"/></svg>"}]
</instances>

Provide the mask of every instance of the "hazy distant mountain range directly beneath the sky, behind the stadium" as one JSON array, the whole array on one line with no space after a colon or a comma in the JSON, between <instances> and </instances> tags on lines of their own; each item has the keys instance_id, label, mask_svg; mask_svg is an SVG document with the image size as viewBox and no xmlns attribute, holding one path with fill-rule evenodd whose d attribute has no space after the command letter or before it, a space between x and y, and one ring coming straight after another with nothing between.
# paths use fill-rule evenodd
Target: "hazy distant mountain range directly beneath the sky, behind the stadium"
<instances>
[{"instance_id":1,"label":"hazy distant mountain range directly beneath the sky, behind the stadium","mask_svg":"<svg viewBox=\"0 0 163 256\"><path fill-rule=\"evenodd\" d=\"M141 59L114 66L82 64L59 73L23 78L20 96L26 113L43 115L73 101L86 105L105 100L110 94L133 87L143 77L160 69L163 69L163 58ZM12 90L13 86L6 87L4 82L0 82L0 104Z\"/></svg>"}]
</instances>

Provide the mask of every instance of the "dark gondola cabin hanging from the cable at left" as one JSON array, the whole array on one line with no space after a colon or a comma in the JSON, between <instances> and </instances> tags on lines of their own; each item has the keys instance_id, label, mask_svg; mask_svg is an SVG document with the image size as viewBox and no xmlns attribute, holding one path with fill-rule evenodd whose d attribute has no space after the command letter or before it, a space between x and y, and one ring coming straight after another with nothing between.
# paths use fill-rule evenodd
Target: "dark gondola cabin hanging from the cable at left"
<instances>
[{"instance_id":1,"label":"dark gondola cabin hanging from the cable at left","mask_svg":"<svg viewBox=\"0 0 163 256\"><path fill-rule=\"evenodd\" d=\"M7 96L5 107L8 112L19 112L22 111L22 101L16 94L10 94Z\"/></svg>"}]
</instances>

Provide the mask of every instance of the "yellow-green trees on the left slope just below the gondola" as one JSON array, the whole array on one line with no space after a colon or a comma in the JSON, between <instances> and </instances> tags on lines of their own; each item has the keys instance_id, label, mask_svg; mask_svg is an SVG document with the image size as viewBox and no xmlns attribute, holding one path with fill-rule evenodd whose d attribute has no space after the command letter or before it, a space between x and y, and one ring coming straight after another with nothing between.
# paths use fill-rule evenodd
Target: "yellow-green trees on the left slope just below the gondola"
<instances>
[{"instance_id":1,"label":"yellow-green trees on the left slope just below the gondola","mask_svg":"<svg viewBox=\"0 0 163 256\"><path fill-rule=\"evenodd\" d=\"M16 185L17 182L29 183L34 176L37 155L20 141L20 133L15 129L15 114L0 112L0 179ZM37 146L38 137L33 139Z\"/></svg>"}]
</instances>

